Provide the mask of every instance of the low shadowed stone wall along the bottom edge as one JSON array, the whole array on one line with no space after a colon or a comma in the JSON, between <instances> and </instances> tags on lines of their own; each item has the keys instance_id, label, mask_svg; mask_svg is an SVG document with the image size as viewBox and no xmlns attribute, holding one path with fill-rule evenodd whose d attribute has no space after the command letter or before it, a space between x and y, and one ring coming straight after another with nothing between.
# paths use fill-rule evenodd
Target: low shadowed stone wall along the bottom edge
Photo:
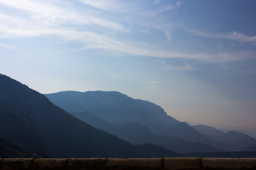
<instances>
[{"instance_id":1,"label":"low shadowed stone wall along the bottom edge","mask_svg":"<svg viewBox=\"0 0 256 170\"><path fill-rule=\"evenodd\" d=\"M256 158L0 159L0 170L255 169Z\"/></svg>"}]
</instances>

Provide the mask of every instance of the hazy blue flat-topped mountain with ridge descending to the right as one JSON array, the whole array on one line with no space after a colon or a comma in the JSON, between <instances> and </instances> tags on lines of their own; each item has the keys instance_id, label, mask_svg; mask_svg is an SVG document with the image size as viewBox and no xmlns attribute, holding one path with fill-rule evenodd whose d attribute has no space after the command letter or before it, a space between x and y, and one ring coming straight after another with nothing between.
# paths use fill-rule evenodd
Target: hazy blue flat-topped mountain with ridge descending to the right
<instances>
[{"instance_id":1,"label":"hazy blue flat-topped mountain with ridge descending to the right","mask_svg":"<svg viewBox=\"0 0 256 170\"><path fill-rule=\"evenodd\" d=\"M90 111L109 123L141 123L155 135L199 142L225 151L236 149L235 145L212 140L187 123L179 122L154 103L134 99L116 91L62 91L46 96L68 112Z\"/></svg>"}]
</instances>

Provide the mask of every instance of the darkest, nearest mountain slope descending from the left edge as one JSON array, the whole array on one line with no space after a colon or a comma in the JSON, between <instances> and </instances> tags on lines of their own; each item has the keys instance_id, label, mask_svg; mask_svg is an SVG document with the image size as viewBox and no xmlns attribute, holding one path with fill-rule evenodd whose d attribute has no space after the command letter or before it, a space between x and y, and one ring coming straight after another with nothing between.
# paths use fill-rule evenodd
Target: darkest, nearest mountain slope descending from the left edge
<instances>
[{"instance_id":1,"label":"darkest, nearest mountain slope descending from the left edge","mask_svg":"<svg viewBox=\"0 0 256 170\"><path fill-rule=\"evenodd\" d=\"M0 99L4 101L0 108L1 113L4 113L4 119L1 121L9 128L12 123L15 124L14 134L8 136L3 132L0 135L9 137L11 140L22 141L20 137L17 137L21 135L18 132L24 131L24 135L31 132L31 137L34 137L33 134L38 134L38 138L31 142L36 145L38 140L45 141L44 139L46 139L46 149L45 145L42 147L50 157L126 158L174 157L178 155L156 145L131 145L114 135L98 130L58 108L46 96L2 74L0 74ZM8 107L11 109L10 112ZM27 120L28 127L24 128L23 122L19 122L18 119L24 119L24 122ZM16 127L19 126L23 129L17 130ZM31 131L29 131L30 128L32 128ZM17 132L17 136L15 136L15 132ZM19 143L16 144L19 145ZM26 146L26 149L30 149L29 146Z\"/></svg>"}]
</instances>

